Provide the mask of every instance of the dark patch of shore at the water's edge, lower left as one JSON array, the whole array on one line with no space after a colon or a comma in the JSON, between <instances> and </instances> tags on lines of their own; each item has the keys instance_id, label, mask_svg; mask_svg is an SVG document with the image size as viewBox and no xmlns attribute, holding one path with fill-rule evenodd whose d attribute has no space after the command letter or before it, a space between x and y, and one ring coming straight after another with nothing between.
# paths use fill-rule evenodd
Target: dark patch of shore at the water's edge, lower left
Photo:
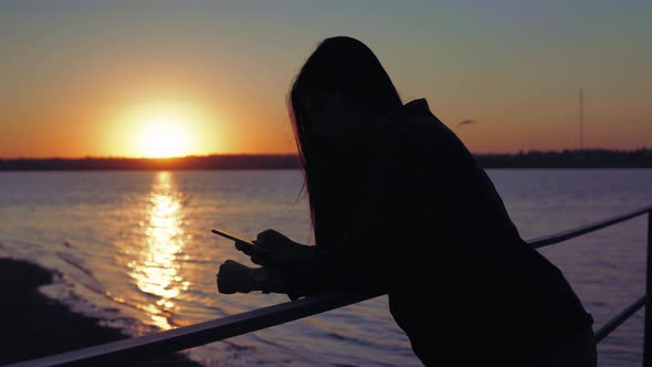
<instances>
[{"instance_id":1,"label":"dark patch of shore at the water's edge, lower left","mask_svg":"<svg viewBox=\"0 0 652 367\"><path fill-rule=\"evenodd\" d=\"M0 259L0 365L43 357L128 336L72 313L38 292L52 274L28 262ZM138 361L134 366L200 366L182 354Z\"/></svg>"}]
</instances>

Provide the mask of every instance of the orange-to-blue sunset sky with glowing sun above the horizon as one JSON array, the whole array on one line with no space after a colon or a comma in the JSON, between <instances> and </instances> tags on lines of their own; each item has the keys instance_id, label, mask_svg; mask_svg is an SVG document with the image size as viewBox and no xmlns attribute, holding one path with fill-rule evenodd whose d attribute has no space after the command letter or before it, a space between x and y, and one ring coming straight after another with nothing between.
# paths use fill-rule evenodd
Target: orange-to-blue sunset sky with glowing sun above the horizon
<instances>
[{"instance_id":1,"label":"orange-to-blue sunset sky with glowing sun above the horizon","mask_svg":"<svg viewBox=\"0 0 652 367\"><path fill-rule=\"evenodd\" d=\"M652 1L0 0L0 157L295 153L317 43L368 44L474 153L652 147ZM458 127L473 119L476 124Z\"/></svg>"}]
</instances>

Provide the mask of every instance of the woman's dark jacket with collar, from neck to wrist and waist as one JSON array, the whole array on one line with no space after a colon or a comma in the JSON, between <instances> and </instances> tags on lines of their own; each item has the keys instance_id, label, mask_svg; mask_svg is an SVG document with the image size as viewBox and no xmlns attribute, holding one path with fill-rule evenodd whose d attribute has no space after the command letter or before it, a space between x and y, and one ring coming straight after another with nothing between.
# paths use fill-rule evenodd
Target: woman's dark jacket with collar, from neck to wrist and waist
<instances>
[{"instance_id":1,"label":"woman's dark jacket with collar, from neck to wrist and waist","mask_svg":"<svg viewBox=\"0 0 652 367\"><path fill-rule=\"evenodd\" d=\"M388 292L393 318L429 366L524 365L592 324L425 99L368 126L313 143L316 254L308 266L282 269L288 293Z\"/></svg>"}]
</instances>

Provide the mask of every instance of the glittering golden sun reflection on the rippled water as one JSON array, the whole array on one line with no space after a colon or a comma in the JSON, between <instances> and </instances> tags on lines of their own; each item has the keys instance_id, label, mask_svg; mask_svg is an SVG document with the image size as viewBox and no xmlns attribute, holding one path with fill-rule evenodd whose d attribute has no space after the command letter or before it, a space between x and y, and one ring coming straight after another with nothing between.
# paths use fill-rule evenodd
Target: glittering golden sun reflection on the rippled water
<instances>
[{"instance_id":1,"label":"glittering golden sun reflection on the rippled water","mask_svg":"<svg viewBox=\"0 0 652 367\"><path fill-rule=\"evenodd\" d=\"M179 274L178 256L185 244L183 208L179 196L171 175L159 172L141 222L143 251L128 264L129 275L138 289L153 298L139 307L151 316L153 324L164 329L172 327L169 317L177 307L175 298L190 285Z\"/></svg>"}]
</instances>

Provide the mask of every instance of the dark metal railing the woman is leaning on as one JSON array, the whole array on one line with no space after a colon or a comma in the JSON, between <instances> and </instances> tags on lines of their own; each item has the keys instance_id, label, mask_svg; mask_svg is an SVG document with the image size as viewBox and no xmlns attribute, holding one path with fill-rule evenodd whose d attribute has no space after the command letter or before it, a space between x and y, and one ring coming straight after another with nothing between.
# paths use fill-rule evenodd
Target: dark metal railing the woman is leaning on
<instances>
[{"instance_id":1,"label":"dark metal railing the woman is leaning on","mask_svg":"<svg viewBox=\"0 0 652 367\"><path fill-rule=\"evenodd\" d=\"M620 312L606 325L595 333L599 343L624 321L631 317L648 302L648 294L652 291L652 206L609 218L599 222L582 226L569 231L538 238L528 241L535 249L556 244L580 237L606 227L610 227L628 219L648 213L648 258L645 294ZM347 306L377 297L375 293L325 293L309 296L298 301L286 302L274 306L253 310L241 314L227 316L206 323L194 324L176 329L155 333L145 336L133 337L101 344L73 352L62 353L43 358L31 359L7 367L23 366L62 366L62 365L96 365L119 364L120 361L134 361L148 357L160 356L208 343L219 342L229 337L256 332L270 326L284 324L291 321L316 315L334 308ZM652 367L652 307L645 307L645 326L643 343L643 366Z\"/></svg>"}]
</instances>

